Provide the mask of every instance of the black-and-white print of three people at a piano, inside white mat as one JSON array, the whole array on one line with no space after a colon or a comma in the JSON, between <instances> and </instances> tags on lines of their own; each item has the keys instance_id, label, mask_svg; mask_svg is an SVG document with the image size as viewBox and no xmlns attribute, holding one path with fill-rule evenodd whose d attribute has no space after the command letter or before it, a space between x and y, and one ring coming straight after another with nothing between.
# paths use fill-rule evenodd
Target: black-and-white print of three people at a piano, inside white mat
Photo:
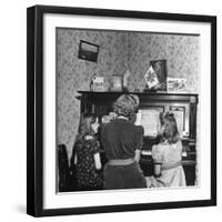
<instances>
[{"instance_id":1,"label":"black-and-white print of three people at a piano, inside white mat","mask_svg":"<svg viewBox=\"0 0 222 222\"><path fill-rule=\"evenodd\" d=\"M74 28L56 34L58 192L199 186L200 36ZM97 62L78 57L82 40L99 46ZM148 90L167 73L185 79L186 93Z\"/></svg>"}]
</instances>

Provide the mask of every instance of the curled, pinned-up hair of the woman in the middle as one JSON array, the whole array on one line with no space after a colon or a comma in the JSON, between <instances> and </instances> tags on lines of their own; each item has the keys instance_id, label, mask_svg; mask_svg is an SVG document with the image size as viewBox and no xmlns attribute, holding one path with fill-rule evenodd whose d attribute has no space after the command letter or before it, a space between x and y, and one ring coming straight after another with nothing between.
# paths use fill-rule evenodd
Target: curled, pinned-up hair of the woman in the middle
<instances>
[{"instance_id":1,"label":"curled, pinned-up hair of the woman in the middle","mask_svg":"<svg viewBox=\"0 0 222 222\"><path fill-rule=\"evenodd\" d=\"M131 119L137 112L140 104L139 97L135 94L122 94L113 103L113 111L118 115Z\"/></svg>"}]
</instances>

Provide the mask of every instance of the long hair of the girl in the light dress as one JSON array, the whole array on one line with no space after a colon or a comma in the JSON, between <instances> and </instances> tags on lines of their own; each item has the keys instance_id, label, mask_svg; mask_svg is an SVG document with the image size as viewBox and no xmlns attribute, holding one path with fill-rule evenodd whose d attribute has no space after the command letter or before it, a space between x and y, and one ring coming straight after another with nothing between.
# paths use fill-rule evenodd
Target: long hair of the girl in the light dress
<instances>
[{"instance_id":1,"label":"long hair of the girl in the light dress","mask_svg":"<svg viewBox=\"0 0 222 222\"><path fill-rule=\"evenodd\" d=\"M163 124L164 130L162 132L162 138L167 140L170 144L178 142L179 140L179 131L174 114L171 112L167 112L163 115Z\"/></svg>"}]
</instances>

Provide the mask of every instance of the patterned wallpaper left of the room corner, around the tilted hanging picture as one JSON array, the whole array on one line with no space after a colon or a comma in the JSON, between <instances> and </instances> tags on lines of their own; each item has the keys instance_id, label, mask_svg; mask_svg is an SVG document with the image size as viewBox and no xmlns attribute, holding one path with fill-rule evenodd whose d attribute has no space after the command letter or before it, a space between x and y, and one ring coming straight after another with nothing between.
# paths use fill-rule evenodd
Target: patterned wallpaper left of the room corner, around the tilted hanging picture
<instances>
[{"instance_id":1,"label":"patterned wallpaper left of the room corner, around the tilted hanging picture","mask_svg":"<svg viewBox=\"0 0 222 222\"><path fill-rule=\"evenodd\" d=\"M80 40L100 46L98 62L78 59ZM78 90L89 90L93 73L105 77L122 74L127 63L127 34L122 32L57 29L58 143L71 155L79 124Z\"/></svg>"}]
</instances>

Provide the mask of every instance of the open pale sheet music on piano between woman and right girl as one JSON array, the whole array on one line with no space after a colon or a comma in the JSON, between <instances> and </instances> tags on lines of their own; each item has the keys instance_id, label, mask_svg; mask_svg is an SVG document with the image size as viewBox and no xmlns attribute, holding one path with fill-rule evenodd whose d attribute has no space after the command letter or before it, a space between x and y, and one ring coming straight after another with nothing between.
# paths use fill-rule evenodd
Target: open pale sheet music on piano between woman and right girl
<instances>
[{"instance_id":1,"label":"open pale sheet music on piano between woman and right girl","mask_svg":"<svg viewBox=\"0 0 222 222\"><path fill-rule=\"evenodd\" d=\"M160 124L160 111L157 109L139 110L135 124L144 128L144 135L157 137Z\"/></svg>"}]
</instances>

